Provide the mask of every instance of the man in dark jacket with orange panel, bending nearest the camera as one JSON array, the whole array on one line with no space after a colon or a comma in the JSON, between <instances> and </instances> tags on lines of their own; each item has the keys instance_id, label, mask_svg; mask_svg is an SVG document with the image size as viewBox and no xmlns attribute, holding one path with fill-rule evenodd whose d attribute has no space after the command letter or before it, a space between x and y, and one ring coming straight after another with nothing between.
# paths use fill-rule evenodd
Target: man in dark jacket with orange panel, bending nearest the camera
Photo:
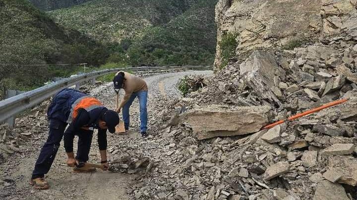
<instances>
[{"instance_id":1,"label":"man in dark jacket with orange panel, bending nearest the camera","mask_svg":"<svg viewBox=\"0 0 357 200\"><path fill-rule=\"evenodd\" d=\"M45 145L41 149L32 172L30 183L36 189L47 189L49 184L44 176L55 160L60 141L64 135L64 148L68 156L67 164L74 167L74 172L93 172L95 168L75 167L80 162L89 160L93 130L98 129L98 145L101 163L104 169L109 168L107 162L107 129L115 132L119 123L118 113L108 110L97 99L73 89L63 89L55 95L47 111L50 120L50 132ZM68 128L65 130L67 124ZM64 131L65 130L65 131ZM78 135L78 150L74 158L73 139Z\"/></svg>"}]
</instances>

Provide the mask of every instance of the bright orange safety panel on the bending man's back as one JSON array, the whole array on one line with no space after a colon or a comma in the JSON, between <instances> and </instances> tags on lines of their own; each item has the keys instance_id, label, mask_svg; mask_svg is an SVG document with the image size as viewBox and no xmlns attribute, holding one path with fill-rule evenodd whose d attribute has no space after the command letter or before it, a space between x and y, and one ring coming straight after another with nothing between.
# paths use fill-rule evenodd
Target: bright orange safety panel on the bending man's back
<instances>
[{"instance_id":1,"label":"bright orange safety panel on the bending man's back","mask_svg":"<svg viewBox=\"0 0 357 200\"><path fill-rule=\"evenodd\" d=\"M78 116L79 109L85 109L87 112L89 112L99 107L103 107L103 104L96 98L91 96L81 97L72 104L72 108L67 122L72 122Z\"/></svg>"}]
</instances>

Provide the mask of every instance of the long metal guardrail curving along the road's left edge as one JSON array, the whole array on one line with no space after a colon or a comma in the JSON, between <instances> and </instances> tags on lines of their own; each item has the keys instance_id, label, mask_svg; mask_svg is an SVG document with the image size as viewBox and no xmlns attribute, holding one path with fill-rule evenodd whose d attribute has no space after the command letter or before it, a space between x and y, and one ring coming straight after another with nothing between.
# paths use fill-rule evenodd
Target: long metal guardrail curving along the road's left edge
<instances>
[{"instance_id":1,"label":"long metal guardrail curving along the road's left edge","mask_svg":"<svg viewBox=\"0 0 357 200\"><path fill-rule=\"evenodd\" d=\"M39 87L37 89L10 97L8 99L0 101L0 122L5 121L18 113L26 109L33 108L34 106L40 104L44 100L50 98L52 95L56 94L61 89L76 85L79 87L81 82L88 80L95 80L96 77L115 73L118 71L133 71L139 72L144 71L150 73L150 71L165 71L165 70L212 70L210 66L172 66L172 67L126 67L118 69L108 69L96 72L90 72L82 75L77 75L72 78L62 79L55 83ZM12 124L9 124L10 126Z\"/></svg>"}]
</instances>

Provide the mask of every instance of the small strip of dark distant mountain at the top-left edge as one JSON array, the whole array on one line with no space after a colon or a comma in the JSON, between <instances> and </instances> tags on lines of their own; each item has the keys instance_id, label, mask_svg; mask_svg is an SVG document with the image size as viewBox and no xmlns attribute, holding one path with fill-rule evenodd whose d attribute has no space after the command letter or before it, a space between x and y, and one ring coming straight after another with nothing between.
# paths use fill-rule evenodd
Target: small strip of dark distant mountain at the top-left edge
<instances>
[{"instance_id":1,"label":"small strip of dark distant mountain at the top-left edge","mask_svg":"<svg viewBox=\"0 0 357 200\"><path fill-rule=\"evenodd\" d=\"M71 7L89 0L29 0L37 8L41 10L56 10L60 8Z\"/></svg>"}]
</instances>

